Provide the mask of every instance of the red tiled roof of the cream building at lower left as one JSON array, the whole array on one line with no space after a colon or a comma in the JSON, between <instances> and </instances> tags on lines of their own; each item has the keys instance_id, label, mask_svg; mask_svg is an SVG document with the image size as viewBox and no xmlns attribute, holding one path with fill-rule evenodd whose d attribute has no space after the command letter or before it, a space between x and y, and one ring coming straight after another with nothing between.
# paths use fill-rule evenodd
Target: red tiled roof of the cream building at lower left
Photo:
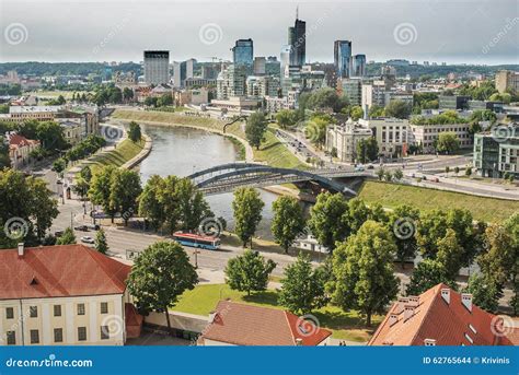
<instances>
[{"instance_id":1,"label":"red tiled roof of the cream building at lower left","mask_svg":"<svg viewBox=\"0 0 519 375\"><path fill-rule=\"evenodd\" d=\"M130 269L83 245L0 250L0 300L122 294Z\"/></svg>"}]
</instances>

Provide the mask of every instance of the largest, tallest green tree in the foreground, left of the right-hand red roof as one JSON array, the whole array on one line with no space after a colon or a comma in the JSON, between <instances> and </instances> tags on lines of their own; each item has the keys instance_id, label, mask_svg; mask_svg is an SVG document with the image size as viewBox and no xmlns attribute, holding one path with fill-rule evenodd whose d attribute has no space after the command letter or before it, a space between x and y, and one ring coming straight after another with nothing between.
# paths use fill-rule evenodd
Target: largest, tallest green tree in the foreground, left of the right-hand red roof
<instances>
[{"instance_id":1,"label":"largest, tallest green tree in the foreground, left of the right-hand red roof","mask_svg":"<svg viewBox=\"0 0 519 375\"><path fill-rule=\"evenodd\" d=\"M396 296L395 254L396 245L389 231L367 221L333 254L333 302L344 310L359 309L370 326L371 316L383 313Z\"/></svg>"}]
</instances>

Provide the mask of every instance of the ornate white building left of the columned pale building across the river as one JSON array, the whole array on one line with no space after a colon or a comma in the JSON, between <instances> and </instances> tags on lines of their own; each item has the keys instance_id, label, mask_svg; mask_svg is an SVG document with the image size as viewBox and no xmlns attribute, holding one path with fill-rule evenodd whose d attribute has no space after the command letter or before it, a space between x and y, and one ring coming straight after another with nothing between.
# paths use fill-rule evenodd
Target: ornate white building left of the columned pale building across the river
<instances>
[{"instance_id":1,"label":"ornate white building left of the columned pale building across the river","mask_svg":"<svg viewBox=\"0 0 519 375\"><path fill-rule=\"evenodd\" d=\"M325 149L327 152L335 150L342 162L354 163L357 161L357 143L371 137L372 132L369 128L349 119L345 124L328 127Z\"/></svg>"}]
</instances>

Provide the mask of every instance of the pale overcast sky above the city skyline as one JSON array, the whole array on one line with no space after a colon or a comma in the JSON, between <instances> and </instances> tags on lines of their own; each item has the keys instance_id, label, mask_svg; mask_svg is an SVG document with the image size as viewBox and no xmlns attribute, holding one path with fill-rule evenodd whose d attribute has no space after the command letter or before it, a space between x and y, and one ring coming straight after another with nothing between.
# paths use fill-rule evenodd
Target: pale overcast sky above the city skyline
<instances>
[{"instance_id":1,"label":"pale overcast sky above the city skyline","mask_svg":"<svg viewBox=\"0 0 519 375\"><path fill-rule=\"evenodd\" d=\"M517 0L0 0L0 61L231 59L239 38L277 56L296 9L307 21L307 60L333 61L353 42L368 61L519 63Z\"/></svg>"}]
</instances>

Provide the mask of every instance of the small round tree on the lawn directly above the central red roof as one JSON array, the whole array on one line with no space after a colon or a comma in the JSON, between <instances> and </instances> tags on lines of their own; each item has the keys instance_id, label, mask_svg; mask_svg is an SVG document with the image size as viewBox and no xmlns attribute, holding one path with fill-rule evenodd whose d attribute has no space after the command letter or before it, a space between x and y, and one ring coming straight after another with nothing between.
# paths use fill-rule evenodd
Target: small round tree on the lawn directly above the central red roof
<instances>
[{"instance_id":1,"label":"small round tree on the lawn directly above the central red roof","mask_svg":"<svg viewBox=\"0 0 519 375\"><path fill-rule=\"evenodd\" d=\"M227 262L226 282L233 290L246 292L261 292L267 289L268 276L276 268L274 260L265 258L257 251L245 249L243 255L229 259Z\"/></svg>"}]
</instances>

